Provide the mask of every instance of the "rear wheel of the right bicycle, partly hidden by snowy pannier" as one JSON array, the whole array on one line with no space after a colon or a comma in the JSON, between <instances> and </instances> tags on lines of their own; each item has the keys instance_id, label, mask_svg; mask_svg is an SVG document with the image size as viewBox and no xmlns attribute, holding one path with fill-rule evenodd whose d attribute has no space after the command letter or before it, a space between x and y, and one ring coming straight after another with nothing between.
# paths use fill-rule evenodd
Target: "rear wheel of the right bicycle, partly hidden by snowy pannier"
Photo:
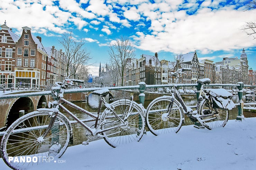
<instances>
[{"instance_id":1,"label":"rear wheel of the right bicycle, partly hidden by snowy pannier","mask_svg":"<svg viewBox=\"0 0 256 170\"><path fill-rule=\"evenodd\" d=\"M200 103L198 113L204 116L201 118L202 122L208 125L208 129L224 127L228 121L228 110L211 108L209 106L207 99L203 99ZM207 116L207 114L209 114L209 116Z\"/></svg>"}]
</instances>

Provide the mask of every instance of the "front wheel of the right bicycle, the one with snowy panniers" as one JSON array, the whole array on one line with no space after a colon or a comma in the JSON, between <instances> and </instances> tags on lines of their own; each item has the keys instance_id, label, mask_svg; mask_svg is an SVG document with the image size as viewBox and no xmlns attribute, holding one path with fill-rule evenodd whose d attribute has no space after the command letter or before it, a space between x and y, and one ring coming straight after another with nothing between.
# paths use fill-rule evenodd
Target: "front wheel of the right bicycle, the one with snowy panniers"
<instances>
[{"instance_id":1,"label":"front wheel of the right bicycle, the one with snowy panniers","mask_svg":"<svg viewBox=\"0 0 256 170\"><path fill-rule=\"evenodd\" d=\"M149 103L146 112L146 123L150 132L155 136L161 133L177 133L182 126L184 113L179 101L174 99L169 116L167 109L172 97L163 96Z\"/></svg>"}]
</instances>

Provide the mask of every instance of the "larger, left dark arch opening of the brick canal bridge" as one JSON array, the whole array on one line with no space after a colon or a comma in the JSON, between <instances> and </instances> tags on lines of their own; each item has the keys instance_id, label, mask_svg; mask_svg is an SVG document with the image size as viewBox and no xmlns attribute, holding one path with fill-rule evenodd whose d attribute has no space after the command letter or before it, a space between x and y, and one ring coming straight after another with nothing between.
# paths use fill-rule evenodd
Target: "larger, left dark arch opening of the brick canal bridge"
<instances>
[{"instance_id":1,"label":"larger, left dark arch opening of the brick canal bridge","mask_svg":"<svg viewBox=\"0 0 256 170\"><path fill-rule=\"evenodd\" d=\"M15 100L10 107L6 117L6 128L8 128L20 115L19 111L24 110L25 114L34 111L34 103L29 97L21 97Z\"/></svg>"}]
</instances>

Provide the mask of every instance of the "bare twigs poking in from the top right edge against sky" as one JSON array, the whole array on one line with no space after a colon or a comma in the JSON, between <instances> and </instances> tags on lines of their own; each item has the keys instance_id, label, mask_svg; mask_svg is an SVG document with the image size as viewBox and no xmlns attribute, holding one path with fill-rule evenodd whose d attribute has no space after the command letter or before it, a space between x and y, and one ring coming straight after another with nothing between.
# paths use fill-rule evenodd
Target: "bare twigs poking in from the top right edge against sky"
<instances>
[{"instance_id":1,"label":"bare twigs poking in from the top right edge against sky","mask_svg":"<svg viewBox=\"0 0 256 170\"><path fill-rule=\"evenodd\" d=\"M246 11L250 9L255 9L256 8L256 0L250 0L246 4ZM256 33L256 23L255 22L246 22L245 28L243 29L247 33L248 36L253 35L253 39L256 39L254 34Z\"/></svg>"}]
</instances>

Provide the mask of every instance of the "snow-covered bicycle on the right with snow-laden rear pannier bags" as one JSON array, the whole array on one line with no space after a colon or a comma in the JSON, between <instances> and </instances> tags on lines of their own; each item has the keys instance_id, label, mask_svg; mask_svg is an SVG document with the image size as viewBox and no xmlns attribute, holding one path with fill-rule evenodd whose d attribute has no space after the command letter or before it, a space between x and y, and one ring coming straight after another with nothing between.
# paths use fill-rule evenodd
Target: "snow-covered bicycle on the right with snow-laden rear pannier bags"
<instances>
[{"instance_id":1,"label":"snow-covered bicycle on the right with snow-laden rear pannier bags","mask_svg":"<svg viewBox=\"0 0 256 170\"><path fill-rule=\"evenodd\" d=\"M176 83L183 71L191 71L189 68L181 68L171 72L170 76L176 77ZM210 79L199 79L201 84L199 100L196 110L192 110L184 103L178 90L170 89L171 96L163 96L154 99L149 103L146 111L146 123L149 130L158 135L161 133L177 133L184 123L184 114L192 122L199 122L199 127L209 130L217 127L224 127L228 121L228 110L235 107L232 93L225 89L204 89L204 84L210 84ZM196 127L196 126L195 126Z\"/></svg>"}]
</instances>

